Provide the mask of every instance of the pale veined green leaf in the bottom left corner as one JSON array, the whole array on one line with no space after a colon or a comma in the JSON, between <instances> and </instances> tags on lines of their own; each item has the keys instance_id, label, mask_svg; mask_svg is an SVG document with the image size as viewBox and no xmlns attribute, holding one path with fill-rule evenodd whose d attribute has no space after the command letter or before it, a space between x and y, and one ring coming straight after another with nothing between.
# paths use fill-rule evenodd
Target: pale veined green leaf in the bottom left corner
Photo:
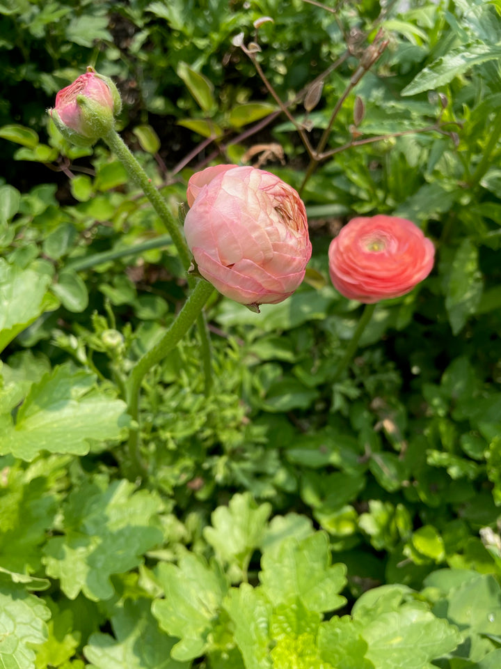
<instances>
[{"instance_id":1,"label":"pale veined green leaf in the bottom left corner","mask_svg":"<svg viewBox=\"0 0 501 669\"><path fill-rule=\"evenodd\" d=\"M33 669L33 645L47 639L50 611L22 585L0 583L0 667Z\"/></svg>"}]
</instances>

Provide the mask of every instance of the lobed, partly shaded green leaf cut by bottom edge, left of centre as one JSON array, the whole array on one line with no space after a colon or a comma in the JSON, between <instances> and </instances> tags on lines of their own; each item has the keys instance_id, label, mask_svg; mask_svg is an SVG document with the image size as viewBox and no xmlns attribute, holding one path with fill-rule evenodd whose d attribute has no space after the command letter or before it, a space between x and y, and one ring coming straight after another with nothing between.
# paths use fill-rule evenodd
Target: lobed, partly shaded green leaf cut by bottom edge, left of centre
<instances>
[{"instance_id":1,"label":"lobed, partly shaded green leaf cut by bottom edge, left of centre","mask_svg":"<svg viewBox=\"0 0 501 669\"><path fill-rule=\"evenodd\" d=\"M150 601L127 599L111 617L113 638L101 632L84 647L92 669L184 669L189 663L170 657L174 640L159 630L150 613Z\"/></svg>"}]
</instances>

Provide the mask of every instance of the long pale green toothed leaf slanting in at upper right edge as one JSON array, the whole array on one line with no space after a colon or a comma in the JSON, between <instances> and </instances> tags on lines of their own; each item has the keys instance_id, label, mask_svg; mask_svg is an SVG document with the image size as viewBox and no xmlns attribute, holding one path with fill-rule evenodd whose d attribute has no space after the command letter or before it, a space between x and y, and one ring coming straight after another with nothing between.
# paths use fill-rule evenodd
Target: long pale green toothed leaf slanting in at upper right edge
<instances>
[{"instance_id":1,"label":"long pale green toothed leaf slanting in at upper right edge","mask_svg":"<svg viewBox=\"0 0 501 669\"><path fill-rule=\"evenodd\" d=\"M470 42L437 59L427 68L424 68L408 86L401 91L401 95L416 95L424 91L436 89L452 82L454 77L463 75L470 68L487 61L501 59L501 47Z\"/></svg>"}]
</instances>

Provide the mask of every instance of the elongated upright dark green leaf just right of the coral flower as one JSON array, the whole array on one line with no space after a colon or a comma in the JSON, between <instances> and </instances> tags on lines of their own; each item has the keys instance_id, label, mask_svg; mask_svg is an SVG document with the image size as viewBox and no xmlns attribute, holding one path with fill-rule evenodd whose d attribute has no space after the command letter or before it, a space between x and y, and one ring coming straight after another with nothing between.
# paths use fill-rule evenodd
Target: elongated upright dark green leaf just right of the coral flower
<instances>
[{"instance_id":1,"label":"elongated upright dark green leaf just right of the coral flower","mask_svg":"<svg viewBox=\"0 0 501 669\"><path fill-rule=\"evenodd\" d=\"M478 263L477 247L469 238L464 239L452 261L445 297L452 334L461 332L482 297L484 284Z\"/></svg>"}]
</instances>

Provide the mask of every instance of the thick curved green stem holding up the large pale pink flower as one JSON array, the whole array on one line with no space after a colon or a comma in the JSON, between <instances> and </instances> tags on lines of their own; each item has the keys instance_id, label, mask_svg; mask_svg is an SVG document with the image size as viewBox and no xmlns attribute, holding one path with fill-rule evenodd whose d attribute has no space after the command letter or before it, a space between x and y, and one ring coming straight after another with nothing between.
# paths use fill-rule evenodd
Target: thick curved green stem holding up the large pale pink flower
<instances>
[{"instance_id":1,"label":"thick curved green stem holding up the large pale pink flower","mask_svg":"<svg viewBox=\"0 0 501 669\"><path fill-rule=\"evenodd\" d=\"M127 405L129 415L132 416L136 423L138 421L139 413L139 390L141 388L141 381L145 375L148 374L148 371L155 364L163 360L164 357L173 350L177 342L182 339L184 334L188 332L191 325L193 325L198 319L198 316L200 316L205 302L207 302L213 291L214 287L211 284L205 281L199 281L188 300L184 303L184 307L177 315L177 318L164 334L164 337L162 337L153 348L150 348L150 351L145 353L132 368L132 372L126 383ZM136 470L136 475L141 472L144 473L145 466L141 459L138 426L132 428L129 433L129 456L132 465Z\"/></svg>"}]
</instances>

